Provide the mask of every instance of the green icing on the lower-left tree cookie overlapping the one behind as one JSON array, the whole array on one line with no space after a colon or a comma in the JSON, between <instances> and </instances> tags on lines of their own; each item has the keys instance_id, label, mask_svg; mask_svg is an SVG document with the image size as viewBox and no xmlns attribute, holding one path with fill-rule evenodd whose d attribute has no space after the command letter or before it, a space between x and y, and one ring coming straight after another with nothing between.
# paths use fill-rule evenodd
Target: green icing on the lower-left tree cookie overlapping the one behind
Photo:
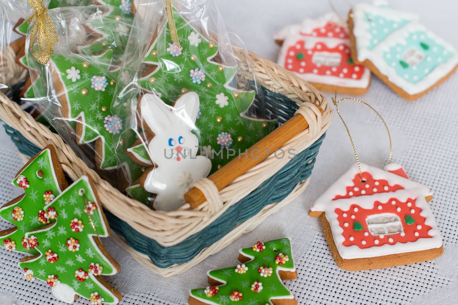
<instances>
[{"instance_id":1,"label":"green icing on the lower-left tree cookie overlapping the one behind","mask_svg":"<svg viewBox=\"0 0 458 305\"><path fill-rule=\"evenodd\" d=\"M97 291L104 298L104 303L113 303L116 299L109 290L100 284L98 279L89 274L83 282L76 280L75 271L82 268L85 272L89 271L91 262L99 263L103 267L102 273L105 275L115 274L116 268L109 259L105 257L95 244L97 235L95 234L88 214L84 212L85 205L80 190L84 190L84 196L87 201L97 204L97 209L93 210L91 219L95 230L100 237L107 237L109 229L105 226L103 212L97 199L94 196L89 180L86 176L81 177L70 187L65 189L60 196L57 196L48 206L55 207L57 210L65 207L67 210L65 217L60 214L57 220L43 229L27 233L35 235L38 239L39 256L26 262L20 262L19 266L33 271L33 276L46 283L48 275L57 275L60 284L70 286L75 294L89 299L91 293ZM83 230L75 232L71 230L71 220L74 218L82 220ZM67 239L73 237L79 241L80 248L78 251L70 251L65 246ZM45 251L51 249L58 255L56 262L50 263L46 260ZM57 285L57 286L58 286Z\"/></svg>"}]
</instances>

